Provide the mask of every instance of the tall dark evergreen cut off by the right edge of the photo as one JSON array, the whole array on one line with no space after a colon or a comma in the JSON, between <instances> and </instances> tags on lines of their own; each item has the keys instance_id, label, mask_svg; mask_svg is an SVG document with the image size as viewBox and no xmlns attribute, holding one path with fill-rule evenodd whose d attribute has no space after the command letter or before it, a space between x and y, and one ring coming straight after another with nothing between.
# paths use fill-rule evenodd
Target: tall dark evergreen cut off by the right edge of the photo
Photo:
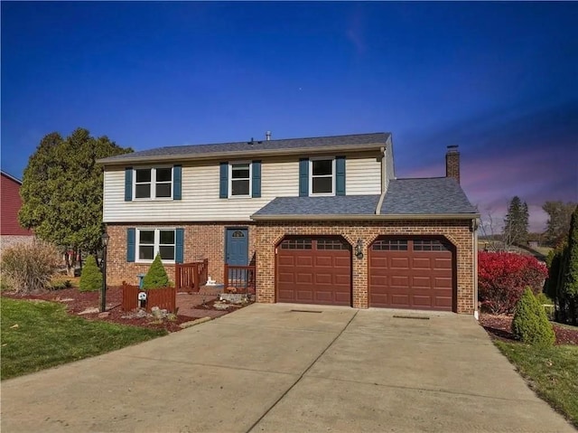
<instances>
[{"instance_id":1,"label":"tall dark evergreen cut off by the right edge of the photo","mask_svg":"<svg viewBox=\"0 0 578 433\"><path fill-rule=\"evenodd\" d=\"M564 275L562 278L562 296L568 300L569 313L576 325L576 307L578 303L578 206L574 209L568 232L568 247L564 254Z\"/></svg>"}]
</instances>

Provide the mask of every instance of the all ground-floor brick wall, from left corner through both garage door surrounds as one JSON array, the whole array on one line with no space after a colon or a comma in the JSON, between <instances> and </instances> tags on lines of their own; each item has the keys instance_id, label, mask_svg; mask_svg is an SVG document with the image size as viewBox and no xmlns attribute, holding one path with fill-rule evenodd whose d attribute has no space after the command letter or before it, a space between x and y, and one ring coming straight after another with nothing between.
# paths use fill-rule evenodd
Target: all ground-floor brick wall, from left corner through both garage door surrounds
<instances>
[{"instance_id":1,"label":"all ground-floor brick wall, from left corner through both garage door surrounds","mask_svg":"<svg viewBox=\"0 0 578 433\"><path fill-rule=\"evenodd\" d=\"M110 224L107 249L107 283L117 286L126 281L137 284L137 274L149 266L126 262L126 229L135 224ZM142 227L172 227L169 224L146 224ZM455 247L456 305L460 314L473 314L474 300L474 234L471 221L260 221L258 223L188 223L174 227L184 228L184 262L209 259L209 275L223 281L225 262L225 230L247 228L249 259L256 257L256 300L275 303L275 246L286 235L340 235L355 246L363 241L364 257L352 261L352 306L368 307L368 246L379 235L442 235ZM165 265L169 278L174 278L174 266Z\"/></svg>"}]
</instances>

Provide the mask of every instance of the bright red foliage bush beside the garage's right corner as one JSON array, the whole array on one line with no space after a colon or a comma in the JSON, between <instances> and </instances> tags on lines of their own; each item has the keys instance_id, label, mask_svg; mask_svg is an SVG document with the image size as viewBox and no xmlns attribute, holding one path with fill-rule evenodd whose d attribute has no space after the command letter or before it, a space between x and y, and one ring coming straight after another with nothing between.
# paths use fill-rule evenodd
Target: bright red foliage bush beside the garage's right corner
<instances>
[{"instance_id":1,"label":"bright red foliage bush beside the garage's right corner","mask_svg":"<svg viewBox=\"0 0 578 433\"><path fill-rule=\"evenodd\" d=\"M511 252L478 252L478 293L482 306L495 315L512 314L524 289L542 291L548 276L535 257Z\"/></svg>"}]
</instances>

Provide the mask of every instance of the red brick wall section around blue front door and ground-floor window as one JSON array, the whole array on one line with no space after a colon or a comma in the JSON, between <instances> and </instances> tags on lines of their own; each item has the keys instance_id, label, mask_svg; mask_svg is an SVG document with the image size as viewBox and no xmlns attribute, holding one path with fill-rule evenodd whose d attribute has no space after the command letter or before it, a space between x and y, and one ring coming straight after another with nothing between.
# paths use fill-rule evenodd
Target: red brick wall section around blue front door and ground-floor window
<instances>
[{"instance_id":1,"label":"red brick wall section around blue front door and ground-floor window","mask_svg":"<svg viewBox=\"0 0 578 433\"><path fill-rule=\"evenodd\" d=\"M228 228L248 229L249 260L255 254L255 224L244 223L187 223L187 224L108 224L110 237L107 247L107 284L119 286L123 281L138 284L137 274L145 274L150 264L126 261L126 229L128 228L183 228L185 263L209 259L209 276L223 282L225 263L225 230ZM174 281L174 265L164 264L166 273Z\"/></svg>"}]
</instances>

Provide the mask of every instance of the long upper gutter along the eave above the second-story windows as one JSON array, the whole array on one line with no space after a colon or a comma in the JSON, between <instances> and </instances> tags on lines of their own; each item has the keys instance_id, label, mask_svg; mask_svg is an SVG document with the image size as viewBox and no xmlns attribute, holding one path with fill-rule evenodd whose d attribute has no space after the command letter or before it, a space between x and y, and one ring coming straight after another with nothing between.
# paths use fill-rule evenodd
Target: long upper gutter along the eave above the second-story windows
<instances>
[{"instance_id":1,"label":"long upper gutter along the eave above the second-story windows","mask_svg":"<svg viewBox=\"0 0 578 433\"><path fill-rule=\"evenodd\" d=\"M155 155L155 156L134 156L122 159L108 160L108 158L101 158L97 160L97 164L103 166L110 165L126 165L134 163L158 163L168 161L207 161L211 159L238 159L249 158L256 156L284 156L284 155L318 155L337 152L363 152L367 150L379 150L383 143L375 143L368 145L348 145L348 146L323 146L323 147L298 147L294 149L266 149L266 150L252 150L251 145L247 145L247 149L235 150L228 152L212 152L210 154L181 154L181 155ZM129 154L130 155L130 154ZM113 156L114 157L114 156Z\"/></svg>"}]
</instances>

